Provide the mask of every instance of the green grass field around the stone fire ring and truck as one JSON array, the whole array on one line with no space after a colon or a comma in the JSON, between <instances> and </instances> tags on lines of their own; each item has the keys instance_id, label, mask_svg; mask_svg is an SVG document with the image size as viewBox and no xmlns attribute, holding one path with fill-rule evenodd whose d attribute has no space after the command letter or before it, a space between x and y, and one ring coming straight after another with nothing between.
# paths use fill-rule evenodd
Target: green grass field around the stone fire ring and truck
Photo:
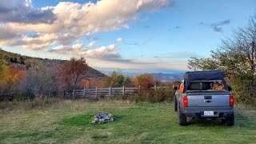
<instances>
[{"instance_id":1,"label":"green grass field around the stone fire ring and truck","mask_svg":"<svg viewBox=\"0 0 256 144\"><path fill-rule=\"evenodd\" d=\"M117 120L91 125L98 112ZM1 102L0 143L256 143L256 110L237 107L234 126L189 119L178 126L173 104Z\"/></svg>"}]
</instances>

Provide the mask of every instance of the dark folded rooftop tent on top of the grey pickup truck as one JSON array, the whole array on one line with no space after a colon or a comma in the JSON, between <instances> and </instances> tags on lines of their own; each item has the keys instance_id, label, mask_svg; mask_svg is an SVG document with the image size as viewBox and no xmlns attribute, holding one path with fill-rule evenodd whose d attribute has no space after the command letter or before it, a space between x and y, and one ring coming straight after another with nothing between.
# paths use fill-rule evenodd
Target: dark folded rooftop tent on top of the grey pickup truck
<instances>
[{"instance_id":1,"label":"dark folded rooftop tent on top of the grey pickup truck","mask_svg":"<svg viewBox=\"0 0 256 144\"><path fill-rule=\"evenodd\" d=\"M224 73L220 70L189 71L185 73L184 80L187 82L224 80Z\"/></svg>"}]
</instances>

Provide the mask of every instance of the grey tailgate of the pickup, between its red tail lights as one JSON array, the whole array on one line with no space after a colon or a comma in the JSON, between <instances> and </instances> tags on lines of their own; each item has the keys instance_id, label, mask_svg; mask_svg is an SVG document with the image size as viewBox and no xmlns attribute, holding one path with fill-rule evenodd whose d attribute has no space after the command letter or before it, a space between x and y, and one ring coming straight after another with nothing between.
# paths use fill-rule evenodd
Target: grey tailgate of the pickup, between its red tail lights
<instances>
[{"instance_id":1,"label":"grey tailgate of the pickup, between its red tail lights","mask_svg":"<svg viewBox=\"0 0 256 144\"><path fill-rule=\"evenodd\" d=\"M230 94L187 94L189 107L230 106Z\"/></svg>"}]
</instances>

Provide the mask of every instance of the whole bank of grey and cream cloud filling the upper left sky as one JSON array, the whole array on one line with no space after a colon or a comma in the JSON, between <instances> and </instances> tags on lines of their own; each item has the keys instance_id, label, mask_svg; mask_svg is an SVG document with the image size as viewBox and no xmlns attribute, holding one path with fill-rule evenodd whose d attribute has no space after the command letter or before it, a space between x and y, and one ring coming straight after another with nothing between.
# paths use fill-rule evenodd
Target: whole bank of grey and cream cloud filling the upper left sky
<instances>
[{"instance_id":1,"label":"whole bank of grey and cream cloud filling the upper left sky","mask_svg":"<svg viewBox=\"0 0 256 144\"><path fill-rule=\"evenodd\" d=\"M170 4L171 0L104 0L84 4L59 2L57 6L37 9L31 0L1 1L0 44L30 50L60 45L69 50L71 43L98 32L129 28L131 22L138 21L140 13L152 13Z\"/></svg>"}]
</instances>

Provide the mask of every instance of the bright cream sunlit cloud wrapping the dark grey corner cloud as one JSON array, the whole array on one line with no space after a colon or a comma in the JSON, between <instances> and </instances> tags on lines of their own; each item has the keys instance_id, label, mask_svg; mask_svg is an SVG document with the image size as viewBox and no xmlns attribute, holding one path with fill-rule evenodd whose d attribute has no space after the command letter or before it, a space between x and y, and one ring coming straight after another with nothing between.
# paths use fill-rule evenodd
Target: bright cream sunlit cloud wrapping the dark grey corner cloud
<instances>
[{"instance_id":1,"label":"bright cream sunlit cloud wrapping the dark grey corner cloud","mask_svg":"<svg viewBox=\"0 0 256 144\"><path fill-rule=\"evenodd\" d=\"M52 24L10 23L9 25L19 32L28 30L46 33L65 32L82 37L100 31L128 28L129 23L136 20L137 14L152 12L169 5L170 0L104 0L97 3L87 2L83 5L59 2L57 6L42 8L42 10L52 10L56 15L57 19Z\"/></svg>"}]
</instances>

